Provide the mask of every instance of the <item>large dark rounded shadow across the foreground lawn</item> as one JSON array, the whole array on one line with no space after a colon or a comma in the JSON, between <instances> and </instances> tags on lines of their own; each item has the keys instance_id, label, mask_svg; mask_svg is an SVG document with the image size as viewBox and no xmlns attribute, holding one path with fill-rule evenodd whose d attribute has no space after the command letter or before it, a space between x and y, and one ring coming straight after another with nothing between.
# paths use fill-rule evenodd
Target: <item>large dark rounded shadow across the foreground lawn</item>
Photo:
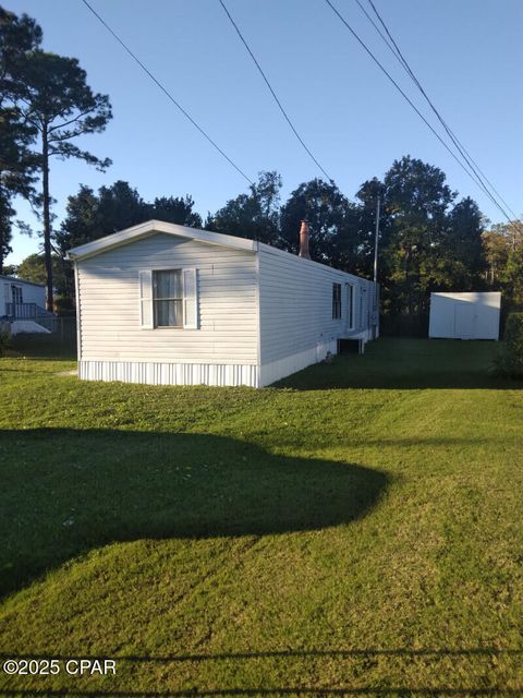
<instances>
[{"instance_id":1,"label":"large dark rounded shadow across the foreground lawn","mask_svg":"<svg viewBox=\"0 0 523 698\"><path fill-rule=\"evenodd\" d=\"M388 484L228 437L106 430L0 431L0 594L111 541L345 524Z\"/></svg>"}]
</instances>

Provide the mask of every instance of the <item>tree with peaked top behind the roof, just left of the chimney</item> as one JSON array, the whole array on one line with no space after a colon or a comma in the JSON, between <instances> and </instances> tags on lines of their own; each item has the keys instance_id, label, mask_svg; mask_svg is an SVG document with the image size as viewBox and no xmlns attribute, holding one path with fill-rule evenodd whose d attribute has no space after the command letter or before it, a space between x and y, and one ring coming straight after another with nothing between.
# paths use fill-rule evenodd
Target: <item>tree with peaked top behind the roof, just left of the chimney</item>
<instances>
[{"instance_id":1,"label":"tree with peaked top behind the roof, just left of the chimney","mask_svg":"<svg viewBox=\"0 0 523 698\"><path fill-rule=\"evenodd\" d=\"M281 177L277 172L260 172L258 181L250 186L250 193L228 201L212 217L207 218L206 228L280 245L280 189Z\"/></svg>"}]
</instances>

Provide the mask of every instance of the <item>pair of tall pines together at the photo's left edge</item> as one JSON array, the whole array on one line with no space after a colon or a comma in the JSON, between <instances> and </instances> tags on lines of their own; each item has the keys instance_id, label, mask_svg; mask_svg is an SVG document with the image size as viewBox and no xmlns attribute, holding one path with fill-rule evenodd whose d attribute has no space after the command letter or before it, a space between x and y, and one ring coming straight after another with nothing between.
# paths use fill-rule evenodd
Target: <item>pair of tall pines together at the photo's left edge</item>
<instances>
[{"instance_id":1,"label":"pair of tall pines together at the photo's left edge","mask_svg":"<svg viewBox=\"0 0 523 698\"><path fill-rule=\"evenodd\" d=\"M76 158L105 170L111 161L78 147L78 136L104 131L107 95L94 93L75 58L41 49L36 22L0 7L0 270L10 251L12 200L28 198L41 220L47 306L53 308L50 167ZM40 178L39 191L36 189Z\"/></svg>"}]
</instances>

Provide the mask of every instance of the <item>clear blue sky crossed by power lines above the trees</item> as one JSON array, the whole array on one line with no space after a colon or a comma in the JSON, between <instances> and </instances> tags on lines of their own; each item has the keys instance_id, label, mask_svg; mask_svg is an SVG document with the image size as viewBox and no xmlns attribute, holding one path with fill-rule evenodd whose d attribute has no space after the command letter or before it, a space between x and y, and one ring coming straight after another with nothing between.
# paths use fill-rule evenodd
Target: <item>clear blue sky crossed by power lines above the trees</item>
<instances>
[{"instance_id":1,"label":"clear blue sky crossed by power lines above the trees","mask_svg":"<svg viewBox=\"0 0 523 698\"><path fill-rule=\"evenodd\" d=\"M354 0L333 0L419 108L427 109ZM365 0L363 0L365 2ZM255 179L277 169L285 197L320 176L289 130L218 0L90 0L158 80L222 149ZM51 193L60 224L80 183L118 179L146 200L192 194L204 216L246 189L123 51L81 0L3 0L44 29L44 47L80 59L88 83L110 95L114 118L104 134L78 140L112 167L54 161ZM226 0L313 153L351 198L410 154L440 167L460 195L501 214L461 170L387 82L324 0ZM427 93L474 159L520 214L523 163L523 2L521 0L375 0ZM433 121L431 117L430 120ZM34 224L27 205L19 218ZM38 250L14 236L16 263Z\"/></svg>"}]
</instances>

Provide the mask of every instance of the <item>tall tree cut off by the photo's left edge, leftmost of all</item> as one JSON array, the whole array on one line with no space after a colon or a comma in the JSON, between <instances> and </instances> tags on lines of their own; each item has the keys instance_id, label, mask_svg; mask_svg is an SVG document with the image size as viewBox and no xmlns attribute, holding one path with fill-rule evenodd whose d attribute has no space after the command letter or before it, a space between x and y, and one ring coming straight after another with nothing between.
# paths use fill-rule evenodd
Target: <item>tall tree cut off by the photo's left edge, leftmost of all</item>
<instances>
[{"instance_id":1,"label":"tall tree cut off by the photo's left edge, leftmost of all","mask_svg":"<svg viewBox=\"0 0 523 698\"><path fill-rule=\"evenodd\" d=\"M0 5L0 273L12 252L12 200L34 195L37 158L31 151L36 130L23 119L15 104L16 74L29 51L41 41L41 29L23 14L21 17Z\"/></svg>"}]
</instances>

